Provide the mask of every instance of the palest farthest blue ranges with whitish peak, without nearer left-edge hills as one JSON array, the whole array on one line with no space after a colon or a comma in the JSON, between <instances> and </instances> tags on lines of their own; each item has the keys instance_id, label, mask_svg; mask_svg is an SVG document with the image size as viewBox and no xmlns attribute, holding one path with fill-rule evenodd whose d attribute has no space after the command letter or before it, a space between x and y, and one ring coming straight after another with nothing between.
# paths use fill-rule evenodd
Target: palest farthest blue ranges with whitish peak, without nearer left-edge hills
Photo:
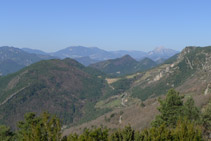
<instances>
[{"instance_id":1,"label":"palest farthest blue ranges with whitish peak, without nearer left-edge hills","mask_svg":"<svg viewBox=\"0 0 211 141\"><path fill-rule=\"evenodd\" d=\"M105 61L108 59L116 59L124 55L130 55L137 61L140 61L143 58L147 57L152 59L153 61L159 62L160 60L166 60L169 57L179 53L178 51L167 49L164 47L156 48L150 52L135 51L135 50L106 51L99 49L97 47L83 47L83 46L71 46L53 53L44 53L43 51L26 49L26 48L24 48L24 51L35 54L51 55L61 59L72 58L78 60L80 63L84 65L89 65L95 62Z\"/></svg>"}]
</instances>

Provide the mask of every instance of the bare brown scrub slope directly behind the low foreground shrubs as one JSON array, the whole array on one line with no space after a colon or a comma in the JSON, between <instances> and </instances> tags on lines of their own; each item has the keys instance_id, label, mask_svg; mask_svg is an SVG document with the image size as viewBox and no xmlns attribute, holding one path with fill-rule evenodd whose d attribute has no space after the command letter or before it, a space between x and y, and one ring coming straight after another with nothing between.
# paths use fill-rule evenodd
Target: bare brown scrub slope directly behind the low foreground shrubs
<instances>
[{"instance_id":1,"label":"bare brown scrub slope directly behind the low foreground shrubs","mask_svg":"<svg viewBox=\"0 0 211 141\"><path fill-rule=\"evenodd\" d=\"M157 110L159 103L155 99L149 99L144 104L145 106L141 106L140 103L136 103L129 107L115 109L93 121L65 129L63 135L81 133L84 128L91 128L93 126L105 126L115 129L131 125L134 129L142 130L150 126L151 121L159 113Z\"/></svg>"}]
</instances>

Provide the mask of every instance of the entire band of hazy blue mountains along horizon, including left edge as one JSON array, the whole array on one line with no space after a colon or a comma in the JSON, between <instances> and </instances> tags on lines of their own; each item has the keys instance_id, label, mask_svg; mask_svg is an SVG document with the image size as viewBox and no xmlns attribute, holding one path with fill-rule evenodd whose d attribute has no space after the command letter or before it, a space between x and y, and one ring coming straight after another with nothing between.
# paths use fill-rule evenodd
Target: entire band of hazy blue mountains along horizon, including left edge
<instances>
[{"instance_id":1,"label":"entire band of hazy blue mountains along horizon, including left edge","mask_svg":"<svg viewBox=\"0 0 211 141\"><path fill-rule=\"evenodd\" d=\"M156 61L156 63L162 63L167 58L173 56L176 53L178 53L178 51L165 48L158 48L149 53L146 53L142 51L125 50L105 51L97 47L89 48L83 46L73 46L54 53L46 53L36 49L19 49L15 47L4 46L0 47L0 75L7 75L40 60L48 60L53 58L72 58L85 66L109 59L121 58L125 55L130 55L137 61L148 57L149 59Z\"/></svg>"}]
</instances>

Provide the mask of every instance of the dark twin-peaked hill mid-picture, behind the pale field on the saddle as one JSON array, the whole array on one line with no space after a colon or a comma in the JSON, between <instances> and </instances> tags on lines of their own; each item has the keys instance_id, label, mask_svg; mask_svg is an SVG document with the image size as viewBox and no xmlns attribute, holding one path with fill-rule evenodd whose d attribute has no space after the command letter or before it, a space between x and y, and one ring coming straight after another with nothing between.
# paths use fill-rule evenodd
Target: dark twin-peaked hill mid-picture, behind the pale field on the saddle
<instances>
[{"instance_id":1,"label":"dark twin-peaked hill mid-picture, behind the pale field on the saddle","mask_svg":"<svg viewBox=\"0 0 211 141\"><path fill-rule=\"evenodd\" d=\"M129 55L90 65L90 67L101 70L111 76L122 76L144 71L154 66L156 66L156 63L149 58L145 58L138 62Z\"/></svg>"}]
</instances>

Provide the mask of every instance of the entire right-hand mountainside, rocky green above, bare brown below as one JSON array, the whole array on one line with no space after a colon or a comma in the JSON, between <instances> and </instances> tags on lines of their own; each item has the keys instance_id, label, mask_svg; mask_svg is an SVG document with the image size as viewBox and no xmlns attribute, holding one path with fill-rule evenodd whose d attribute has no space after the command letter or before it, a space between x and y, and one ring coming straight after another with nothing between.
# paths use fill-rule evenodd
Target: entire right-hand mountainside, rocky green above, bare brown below
<instances>
[{"instance_id":1,"label":"entire right-hand mountainside, rocky green above, bare brown below","mask_svg":"<svg viewBox=\"0 0 211 141\"><path fill-rule=\"evenodd\" d=\"M128 124L138 130L145 129L158 114L158 96L166 94L170 88L180 92L184 100L193 97L196 105L203 107L211 98L210 76L211 47L187 47L164 64L145 72L107 78L113 95L100 100L96 107L108 107L112 111L66 131L80 132L99 124L111 129Z\"/></svg>"}]
</instances>

